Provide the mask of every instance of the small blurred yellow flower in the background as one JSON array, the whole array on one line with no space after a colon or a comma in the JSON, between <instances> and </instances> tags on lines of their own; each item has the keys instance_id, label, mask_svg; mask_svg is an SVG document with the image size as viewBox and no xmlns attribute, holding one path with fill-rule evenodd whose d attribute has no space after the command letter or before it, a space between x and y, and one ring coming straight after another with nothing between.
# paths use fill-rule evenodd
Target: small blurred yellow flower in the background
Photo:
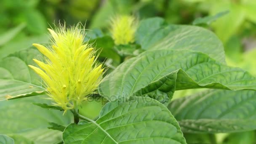
<instances>
[{"instance_id":1,"label":"small blurred yellow flower in the background","mask_svg":"<svg viewBox=\"0 0 256 144\"><path fill-rule=\"evenodd\" d=\"M116 16L111 20L110 32L116 45L133 43L136 29L137 21L133 16Z\"/></svg>"}]
</instances>

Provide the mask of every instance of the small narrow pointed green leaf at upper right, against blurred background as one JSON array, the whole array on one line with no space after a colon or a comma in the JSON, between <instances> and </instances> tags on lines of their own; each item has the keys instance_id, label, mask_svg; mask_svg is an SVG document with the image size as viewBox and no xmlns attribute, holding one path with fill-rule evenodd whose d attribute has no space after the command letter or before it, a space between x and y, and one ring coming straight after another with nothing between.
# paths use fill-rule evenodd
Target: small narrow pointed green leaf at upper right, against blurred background
<instances>
[{"instance_id":1,"label":"small narrow pointed green leaf at upper right, against blurred background","mask_svg":"<svg viewBox=\"0 0 256 144\"><path fill-rule=\"evenodd\" d=\"M200 17L200 18L195 19L192 22L192 24L193 25L200 25L200 24L210 25L213 21L216 21L217 19L219 19L220 17L222 17L228 13L229 13L229 11L222 11L222 12L217 13L214 16L205 16L203 18Z\"/></svg>"}]
</instances>

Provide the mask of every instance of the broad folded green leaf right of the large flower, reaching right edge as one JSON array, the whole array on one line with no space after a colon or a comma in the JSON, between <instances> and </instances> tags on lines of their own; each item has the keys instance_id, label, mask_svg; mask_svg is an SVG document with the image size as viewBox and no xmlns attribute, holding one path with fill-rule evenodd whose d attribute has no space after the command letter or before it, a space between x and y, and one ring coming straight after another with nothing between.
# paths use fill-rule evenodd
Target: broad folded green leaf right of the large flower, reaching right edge
<instances>
[{"instance_id":1,"label":"broad folded green leaf right of the large flower, reaching right edge","mask_svg":"<svg viewBox=\"0 0 256 144\"><path fill-rule=\"evenodd\" d=\"M137 95L137 91L157 91L171 72L177 71L176 90L218 88L229 90L256 89L256 79L239 68L228 67L207 55L193 51L152 50L129 59L104 78L101 95L109 100L116 96ZM170 79L171 80L171 79ZM175 78L172 77L172 80ZM149 85L149 86L147 86ZM168 93L175 83L164 85ZM163 93L162 93L163 94ZM144 95L144 93L142 93Z\"/></svg>"}]
</instances>

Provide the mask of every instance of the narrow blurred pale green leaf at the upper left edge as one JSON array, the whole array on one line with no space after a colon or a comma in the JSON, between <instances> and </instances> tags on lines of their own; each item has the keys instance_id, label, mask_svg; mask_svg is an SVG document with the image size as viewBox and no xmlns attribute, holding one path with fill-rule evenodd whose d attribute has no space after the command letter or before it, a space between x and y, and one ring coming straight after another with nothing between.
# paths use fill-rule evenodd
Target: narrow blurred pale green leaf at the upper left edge
<instances>
[{"instance_id":1,"label":"narrow blurred pale green leaf at the upper left edge","mask_svg":"<svg viewBox=\"0 0 256 144\"><path fill-rule=\"evenodd\" d=\"M22 24L19 24L17 27L9 29L4 34L1 34L0 35L0 46L4 45L8 41L12 40L13 37L15 37L19 32L21 32L21 30L24 29L25 26L26 26L26 24L22 23Z\"/></svg>"}]
</instances>

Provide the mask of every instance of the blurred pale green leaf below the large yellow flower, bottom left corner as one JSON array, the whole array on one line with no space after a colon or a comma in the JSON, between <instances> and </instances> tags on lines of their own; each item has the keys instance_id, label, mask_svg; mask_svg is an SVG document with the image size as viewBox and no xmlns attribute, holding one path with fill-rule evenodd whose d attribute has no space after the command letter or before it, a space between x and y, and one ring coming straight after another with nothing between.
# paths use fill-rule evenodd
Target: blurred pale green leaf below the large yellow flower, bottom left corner
<instances>
[{"instance_id":1,"label":"blurred pale green leaf below the large yellow flower, bottom left corner","mask_svg":"<svg viewBox=\"0 0 256 144\"><path fill-rule=\"evenodd\" d=\"M68 125L72 122L70 113L62 115L59 110L43 109L32 103L50 104L40 96L13 99L0 102L0 133L8 136L22 136L35 144L49 144L61 139L61 132L50 130L48 122ZM18 142L17 142L18 143Z\"/></svg>"}]
</instances>

